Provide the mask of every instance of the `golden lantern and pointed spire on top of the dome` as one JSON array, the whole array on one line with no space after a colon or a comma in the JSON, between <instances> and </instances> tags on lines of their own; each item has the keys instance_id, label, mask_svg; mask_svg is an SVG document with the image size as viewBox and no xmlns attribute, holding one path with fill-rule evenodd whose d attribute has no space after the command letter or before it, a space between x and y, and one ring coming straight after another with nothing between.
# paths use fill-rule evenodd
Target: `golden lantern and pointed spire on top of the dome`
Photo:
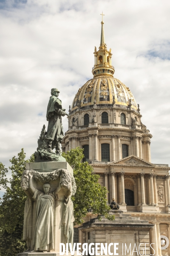
<instances>
[{"instance_id":1,"label":"golden lantern and pointed spire on top of the dome","mask_svg":"<svg viewBox=\"0 0 170 256\"><path fill-rule=\"evenodd\" d=\"M103 12L102 12L102 30L99 50L94 48L94 67L92 73L94 77L101 76L103 74L112 76L114 74L114 67L111 65L111 48L108 51L107 45L105 44L105 34L104 34L104 22L103 22Z\"/></svg>"}]
</instances>

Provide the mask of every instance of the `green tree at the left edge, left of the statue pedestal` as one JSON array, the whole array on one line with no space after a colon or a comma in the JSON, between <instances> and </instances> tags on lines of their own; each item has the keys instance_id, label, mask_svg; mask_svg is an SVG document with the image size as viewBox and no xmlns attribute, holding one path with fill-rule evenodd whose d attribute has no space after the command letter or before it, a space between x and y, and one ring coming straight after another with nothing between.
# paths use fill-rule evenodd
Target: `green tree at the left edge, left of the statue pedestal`
<instances>
[{"instance_id":1,"label":"green tree at the left edge, left of the statue pedestal","mask_svg":"<svg viewBox=\"0 0 170 256\"><path fill-rule=\"evenodd\" d=\"M23 216L26 194L20 187L20 178L26 168L26 162L33 162L34 156L26 160L23 151L11 162L11 179L8 181L8 169L0 163L0 186L6 189L0 201L0 256L16 256L26 249L26 242L22 240Z\"/></svg>"}]
</instances>

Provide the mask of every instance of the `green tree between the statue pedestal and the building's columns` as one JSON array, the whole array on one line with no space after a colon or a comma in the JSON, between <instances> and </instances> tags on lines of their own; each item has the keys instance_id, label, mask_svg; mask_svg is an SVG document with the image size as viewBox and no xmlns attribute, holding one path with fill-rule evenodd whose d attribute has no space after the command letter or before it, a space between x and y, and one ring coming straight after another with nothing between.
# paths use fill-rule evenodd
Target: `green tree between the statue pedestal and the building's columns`
<instances>
[{"instance_id":1,"label":"green tree between the statue pedestal and the building's columns","mask_svg":"<svg viewBox=\"0 0 170 256\"><path fill-rule=\"evenodd\" d=\"M93 168L88 162L82 163L83 149L79 147L71 149L67 154L62 153L62 156L74 169L77 192L71 200L74 204L75 223L83 222L83 217L88 213L89 207L94 214L105 215L109 220L113 220L114 215L108 215L110 207L106 200L107 190L98 183L99 175L93 174Z\"/></svg>"}]
</instances>

